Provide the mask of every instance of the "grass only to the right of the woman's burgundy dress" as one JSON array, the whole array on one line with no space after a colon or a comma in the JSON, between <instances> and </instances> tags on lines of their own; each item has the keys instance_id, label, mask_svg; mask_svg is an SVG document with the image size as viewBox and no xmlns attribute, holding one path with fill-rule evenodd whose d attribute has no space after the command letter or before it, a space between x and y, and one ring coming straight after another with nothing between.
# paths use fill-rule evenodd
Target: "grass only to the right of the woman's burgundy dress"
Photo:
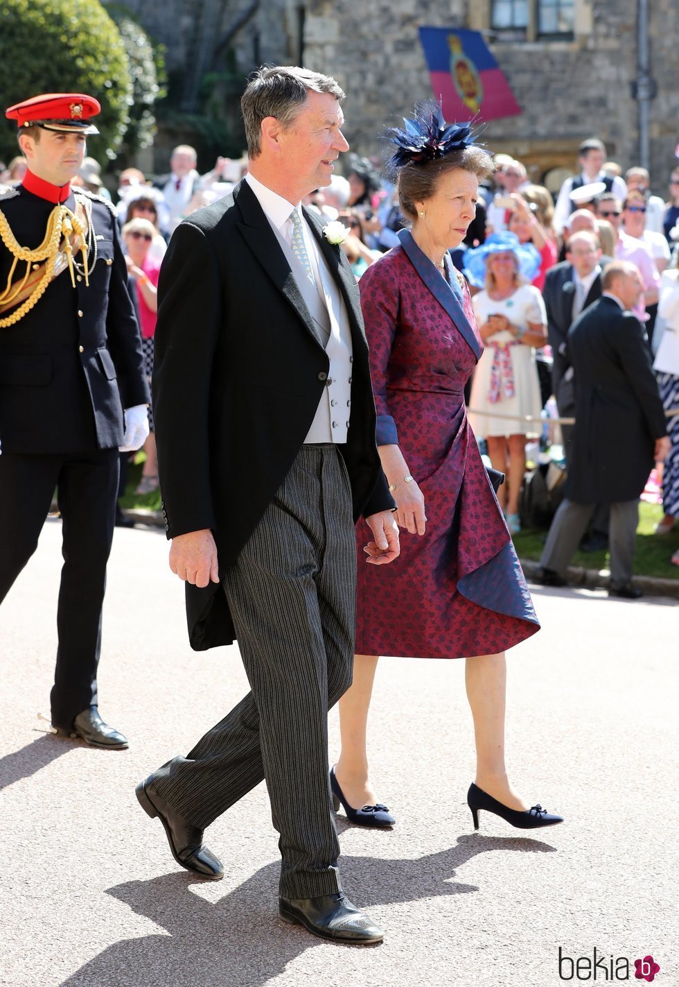
<instances>
[{"instance_id":1,"label":"grass only to the right of the woman's burgundy dress","mask_svg":"<svg viewBox=\"0 0 679 987\"><path fill-rule=\"evenodd\" d=\"M637 552L635 574L653 575L663 579L679 579L679 566L672 566L670 558L679 549L679 524L669 535L654 535L653 528L662 517L662 507L642 500L637 528ZM519 559L537 562L545 544L546 531L524 530L514 535L514 547ZM584 569L608 569L608 552L577 552L573 566Z\"/></svg>"}]
</instances>

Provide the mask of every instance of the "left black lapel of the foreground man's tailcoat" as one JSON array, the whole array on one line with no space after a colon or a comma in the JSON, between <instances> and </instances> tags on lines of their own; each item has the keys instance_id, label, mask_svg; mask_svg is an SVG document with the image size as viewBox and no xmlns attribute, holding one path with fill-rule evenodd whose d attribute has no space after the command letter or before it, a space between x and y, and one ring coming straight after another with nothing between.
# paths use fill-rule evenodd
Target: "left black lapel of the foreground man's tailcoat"
<instances>
[{"instance_id":1,"label":"left black lapel of the foreground man's tailcoat","mask_svg":"<svg viewBox=\"0 0 679 987\"><path fill-rule=\"evenodd\" d=\"M242 223L237 223L238 230L247 246L300 316L314 342L322 346L311 313L308 311L295 276L276 239L276 234L271 229L257 196L244 180L234 190L234 201L238 204L240 215L243 218Z\"/></svg>"}]
</instances>

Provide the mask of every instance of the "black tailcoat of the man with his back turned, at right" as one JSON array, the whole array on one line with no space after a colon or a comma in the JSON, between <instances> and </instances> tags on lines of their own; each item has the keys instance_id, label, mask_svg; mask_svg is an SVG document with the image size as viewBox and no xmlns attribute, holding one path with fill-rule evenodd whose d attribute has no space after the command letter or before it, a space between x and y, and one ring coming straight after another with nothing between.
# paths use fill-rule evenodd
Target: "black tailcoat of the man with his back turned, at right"
<instances>
[{"instance_id":1,"label":"black tailcoat of the man with his back turned, at right","mask_svg":"<svg viewBox=\"0 0 679 987\"><path fill-rule=\"evenodd\" d=\"M577 503L636 500L667 423L645 331L633 312L603 295L568 335L576 425L568 495Z\"/></svg>"}]
</instances>

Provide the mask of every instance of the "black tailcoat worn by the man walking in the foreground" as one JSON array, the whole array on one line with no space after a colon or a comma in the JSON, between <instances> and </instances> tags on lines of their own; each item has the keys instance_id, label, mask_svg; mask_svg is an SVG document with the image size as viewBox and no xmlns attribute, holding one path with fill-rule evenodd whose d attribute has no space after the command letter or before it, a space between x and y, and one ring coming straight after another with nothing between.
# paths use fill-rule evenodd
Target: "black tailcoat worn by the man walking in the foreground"
<instances>
[{"instance_id":1,"label":"black tailcoat worn by the man walking in the foreground","mask_svg":"<svg viewBox=\"0 0 679 987\"><path fill-rule=\"evenodd\" d=\"M359 289L339 246L305 211L342 292L353 342L349 436L340 451L354 516L391 509ZM232 566L304 443L329 360L283 251L246 182L182 222L159 283L154 418L168 537L211 528ZM231 644L221 588L187 584L191 645Z\"/></svg>"}]
</instances>

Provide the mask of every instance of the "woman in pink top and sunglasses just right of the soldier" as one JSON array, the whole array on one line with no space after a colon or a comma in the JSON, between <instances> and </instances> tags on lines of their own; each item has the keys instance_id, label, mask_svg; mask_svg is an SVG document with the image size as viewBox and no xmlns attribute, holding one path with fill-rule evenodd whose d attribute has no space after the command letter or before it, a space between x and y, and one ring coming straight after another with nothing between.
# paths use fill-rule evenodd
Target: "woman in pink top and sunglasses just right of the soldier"
<instances>
[{"instance_id":1,"label":"woman in pink top and sunglasses just right of the soldier","mask_svg":"<svg viewBox=\"0 0 679 987\"><path fill-rule=\"evenodd\" d=\"M144 373L149 384L154 365L158 278L161 273L160 262L151 257L150 248L157 236L158 230L151 220L143 219L141 216L130 219L122 228L129 287L137 295L139 326L142 331L142 348L144 350ZM135 493L153 493L159 487L158 455L156 453L156 435L151 405L149 405L149 429L149 435L142 447L146 453L146 462L142 467L141 480Z\"/></svg>"}]
</instances>

